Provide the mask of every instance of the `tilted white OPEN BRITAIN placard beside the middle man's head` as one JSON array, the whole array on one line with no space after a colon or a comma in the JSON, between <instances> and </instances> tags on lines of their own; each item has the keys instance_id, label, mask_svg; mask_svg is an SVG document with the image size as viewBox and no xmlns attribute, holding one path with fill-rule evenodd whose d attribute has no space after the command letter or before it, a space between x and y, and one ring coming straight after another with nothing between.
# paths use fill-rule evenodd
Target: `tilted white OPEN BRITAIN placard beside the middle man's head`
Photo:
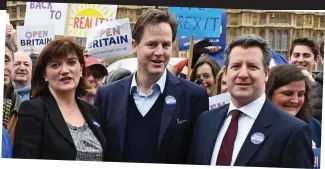
<instances>
[{"instance_id":1,"label":"tilted white OPEN BRITAIN placard beside the middle man's head","mask_svg":"<svg viewBox=\"0 0 325 169\"><path fill-rule=\"evenodd\" d=\"M87 31L86 50L100 60L132 54L129 18L103 23Z\"/></svg>"}]
</instances>

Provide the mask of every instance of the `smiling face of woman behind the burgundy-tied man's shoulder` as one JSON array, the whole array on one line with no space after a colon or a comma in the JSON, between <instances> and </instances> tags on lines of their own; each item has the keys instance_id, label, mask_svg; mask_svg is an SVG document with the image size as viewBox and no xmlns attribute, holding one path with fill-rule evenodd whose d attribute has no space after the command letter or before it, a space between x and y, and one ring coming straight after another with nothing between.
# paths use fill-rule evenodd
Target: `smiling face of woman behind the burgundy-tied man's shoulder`
<instances>
[{"instance_id":1,"label":"smiling face of woman behind the burgundy-tied man's shoulder","mask_svg":"<svg viewBox=\"0 0 325 169\"><path fill-rule=\"evenodd\" d=\"M293 81L276 89L271 102L283 111L296 116L305 101L306 83L304 80Z\"/></svg>"}]
</instances>

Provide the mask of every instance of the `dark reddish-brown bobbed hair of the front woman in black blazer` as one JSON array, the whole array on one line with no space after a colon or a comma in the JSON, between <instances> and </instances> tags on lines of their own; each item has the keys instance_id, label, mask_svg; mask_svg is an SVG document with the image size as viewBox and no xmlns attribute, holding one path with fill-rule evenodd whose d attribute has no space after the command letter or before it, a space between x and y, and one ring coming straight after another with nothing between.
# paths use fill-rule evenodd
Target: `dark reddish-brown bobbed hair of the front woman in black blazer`
<instances>
[{"instance_id":1,"label":"dark reddish-brown bobbed hair of the front woman in black blazer","mask_svg":"<svg viewBox=\"0 0 325 169\"><path fill-rule=\"evenodd\" d=\"M86 74L85 60L83 57L83 49L81 45L76 43L73 39L64 37L62 39L56 39L47 44L42 52L39 54L36 65L33 69L32 75L32 91L31 96L33 98L37 96L49 96L51 95L47 82L44 79L44 72L46 66L55 57L67 57L69 54L75 53L82 66L82 77L76 90L76 96L83 96L87 92L88 85L84 78Z\"/></svg>"}]
</instances>

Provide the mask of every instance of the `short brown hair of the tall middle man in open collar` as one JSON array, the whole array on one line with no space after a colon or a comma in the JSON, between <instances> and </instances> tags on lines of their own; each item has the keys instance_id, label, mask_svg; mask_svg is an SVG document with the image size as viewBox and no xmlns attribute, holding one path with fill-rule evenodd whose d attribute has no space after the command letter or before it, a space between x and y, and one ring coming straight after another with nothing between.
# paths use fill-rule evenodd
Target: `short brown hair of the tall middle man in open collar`
<instances>
[{"instance_id":1,"label":"short brown hair of the tall middle man in open collar","mask_svg":"<svg viewBox=\"0 0 325 169\"><path fill-rule=\"evenodd\" d=\"M135 42L140 43L144 28L159 24L161 22L166 22L170 25L173 33L172 40L174 42L176 39L178 25L176 17L173 14L168 13L168 11L163 11L160 9L149 9L139 17L132 32L132 37Z\"/></svg>"}]
</instances>

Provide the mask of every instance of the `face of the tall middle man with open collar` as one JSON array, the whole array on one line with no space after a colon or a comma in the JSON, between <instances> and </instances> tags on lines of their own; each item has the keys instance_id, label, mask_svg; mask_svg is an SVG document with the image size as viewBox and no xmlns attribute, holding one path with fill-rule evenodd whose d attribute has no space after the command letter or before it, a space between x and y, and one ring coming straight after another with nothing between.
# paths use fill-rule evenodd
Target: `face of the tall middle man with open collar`
<instances>
[{"instance_id":1,"label":"face of the tall middle man with open collar","mask_svg":"<svg viewBox=\"0 0 325 169\"><path fill-rule=\"evenodd\" d=\"M172 29L168 23L148 25L139 44L133 41L133 52L138 57L138 71L147 75L161 75L172 55Z\"/></svg>"}]
</instances>

